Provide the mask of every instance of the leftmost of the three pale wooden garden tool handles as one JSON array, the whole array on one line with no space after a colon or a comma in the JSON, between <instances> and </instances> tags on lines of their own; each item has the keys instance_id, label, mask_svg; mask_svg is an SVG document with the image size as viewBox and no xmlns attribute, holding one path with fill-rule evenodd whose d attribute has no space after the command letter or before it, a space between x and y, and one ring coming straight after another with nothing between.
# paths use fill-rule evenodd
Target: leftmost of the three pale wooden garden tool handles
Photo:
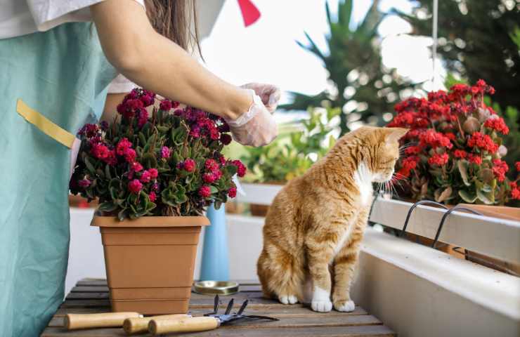
<instances>
[{"instance_id":1,"label":"leftmost of the three pale wooden garden tool handles","mask_svg":"<svg viewBox=\"0 0 520 337\"><path fill-rule=\"evenodd\" d=\"M127 318L143 317L138 312L104 312L103 314L67 314L65 328L68 330L123 326Z\"/></svg>"}]
</instances>

